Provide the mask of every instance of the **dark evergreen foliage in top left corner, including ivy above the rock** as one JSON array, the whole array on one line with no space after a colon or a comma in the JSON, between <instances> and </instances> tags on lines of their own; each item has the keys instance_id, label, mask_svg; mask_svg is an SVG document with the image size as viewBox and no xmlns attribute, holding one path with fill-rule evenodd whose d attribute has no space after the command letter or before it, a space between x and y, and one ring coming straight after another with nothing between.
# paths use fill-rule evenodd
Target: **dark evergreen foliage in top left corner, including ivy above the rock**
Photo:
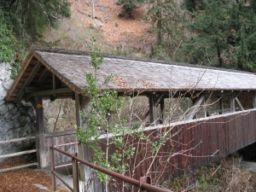
<instances>
[{"instance_id":1,"label":"dark evergreen foliage in top left corner, including ivy above the rock","mask_svg":"<svg viewBox=\"0 0 256 192\"><path fill-rule=\"evenodd\" d=\"M17 48L26 48L38 41L46 27L58 26L59 17L69 17L70 3L67 0L0 0L0 11L1 30L5 30L0 41L3 42L6 40L3 38L9 37L6 40L9 43L5 44L9 52L2 52L0 61L9 61L10 52L11 55L20 52ZM8 34L6 30L9 31Z\"/></svg>"}]
</instances>

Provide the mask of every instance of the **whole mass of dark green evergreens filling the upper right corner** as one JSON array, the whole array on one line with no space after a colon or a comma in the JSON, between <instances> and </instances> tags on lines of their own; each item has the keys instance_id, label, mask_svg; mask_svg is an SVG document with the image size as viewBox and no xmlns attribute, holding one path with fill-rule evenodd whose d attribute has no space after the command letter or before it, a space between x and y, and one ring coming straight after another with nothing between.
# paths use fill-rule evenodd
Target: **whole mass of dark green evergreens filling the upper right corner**
<instances>
[{"instance_id":1,"label":"whole mass of dark green evergreens filling the upper right corner","mask_svg":"<svg viewBox=\"0 0 256 192\"><path fill-rule=\"evenodd\" d=\"M177 60L256 72L255 1L185 3L192 20L184 25L190 37Z\"/></svg>"}]
</instances>

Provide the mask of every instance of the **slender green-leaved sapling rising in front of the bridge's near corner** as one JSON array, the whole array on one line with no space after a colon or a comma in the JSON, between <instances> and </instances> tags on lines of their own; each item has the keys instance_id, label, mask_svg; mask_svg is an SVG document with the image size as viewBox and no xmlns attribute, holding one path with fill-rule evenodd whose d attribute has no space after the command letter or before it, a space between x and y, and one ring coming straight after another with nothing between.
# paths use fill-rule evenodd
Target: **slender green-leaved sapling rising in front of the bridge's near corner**
<instances>
[{"instance_id":1,"label":"slender green-leaved sapling rising in front of the bridge's near corner","mask_svg":"<svg viewBox=\"0 0 256 192\"><path fill-rule=\"evenodd\" d=\"M115 172L124 172L124 167L114 166L115 164L119 164L119 154L112 156L113 164L111 164L108 159L108 145L110 144L108 133L119 132L119 122L117 122L119 119L116 116L119 113L123 100L118 96L116 91L102 91L102 86L107 84L112 76L110 75L103 82L102 79L98 79L100 65L104 59L101 54L101 49L97 48L95 44L96 39L92 38L92 46L90 47L90 50L92 51L90 54L90 64L94 71L92 73L85 74L85 79L88 85L84 90L90 97L90 107L81 112L85 129L83 127L76 126L77 137L81 143L93 150L94 163ZM115 119L115 122L113 122L112 125L110 124L109 119L110 113L112 114L112 119ZM100 145L99 137L102 132L106 133L106 151L103 151ZM97 174L101 181L108 180L108 177L106 177L102 172L97 172ZM106 187L108 187L107 184Z\"/></svg>"}]
</instances>

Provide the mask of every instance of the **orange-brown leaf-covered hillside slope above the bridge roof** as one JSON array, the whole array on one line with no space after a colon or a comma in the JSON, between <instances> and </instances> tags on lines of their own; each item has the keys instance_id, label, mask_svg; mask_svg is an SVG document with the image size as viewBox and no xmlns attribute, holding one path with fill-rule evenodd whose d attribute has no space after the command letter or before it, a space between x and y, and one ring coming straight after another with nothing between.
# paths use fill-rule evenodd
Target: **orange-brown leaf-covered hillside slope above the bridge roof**
<instances>
[{"instance_id":1,"label":"orange-brown leaf-covered hillside slope above the bridge roof","mask_svg":"<svg viewBox=\"0 0 256 192\"><path fill-rule=\"evenodd\" d=\"M72 16L61 19L59 29L49 29L44 40L61 49L86 49L94 36L103 52L117 55L149 56L155 41L149 24L141 16L146 7L134 9L131 18L122 13L116 0L98 0L95 3L95 16L92 19L90 1L70 0Z\"/></svg>"}]
</instances>

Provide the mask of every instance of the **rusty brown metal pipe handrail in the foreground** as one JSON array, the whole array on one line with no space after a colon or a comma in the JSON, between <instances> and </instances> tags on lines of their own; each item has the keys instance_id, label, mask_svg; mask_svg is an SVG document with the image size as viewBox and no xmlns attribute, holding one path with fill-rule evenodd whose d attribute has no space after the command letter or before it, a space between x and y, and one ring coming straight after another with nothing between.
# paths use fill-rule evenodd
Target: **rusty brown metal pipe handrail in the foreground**
<instances>
[{"instance_id":1,"label":"rusty brown metal pipe handrail in the foreground","mask_svg":"<svg viewBox=\"0 0 256 192\"><path fill-rule=\"evenodd\" d=\"M61 150L60 148L56 148L54 145L50 146L50 149L52 151L51 153L51 172L52 172L52 182L53 182L53 190L55 191L55 176L57 174L55 173L55 165L54 165L54 150L60 152L61 154L65 154L72 158L73 160L73 189L70 186L67 186L69 189L71 189L74 192L79 192L79 178L78 178L78 162L84 164L85 166L90 166L90 168L93 168L99 172L103 172L111 177L118 178L119 180L124 181L125 183L130 183L131 185L134 185L141 190L147 190L148 192L172 192L168 189L162 189L159 187L155 187L151 185L151 177L140 177L140 180L136 180L131 177L126 177L124 175L119 174L118 172L113 172L108 169L105 169L101 166L96 166L95 164L92 164L86 160L82 160L77 156L77 153L68 154L67 152ZM66 184L66 183L64 183Z\"/></svg>"}]
</instances>

